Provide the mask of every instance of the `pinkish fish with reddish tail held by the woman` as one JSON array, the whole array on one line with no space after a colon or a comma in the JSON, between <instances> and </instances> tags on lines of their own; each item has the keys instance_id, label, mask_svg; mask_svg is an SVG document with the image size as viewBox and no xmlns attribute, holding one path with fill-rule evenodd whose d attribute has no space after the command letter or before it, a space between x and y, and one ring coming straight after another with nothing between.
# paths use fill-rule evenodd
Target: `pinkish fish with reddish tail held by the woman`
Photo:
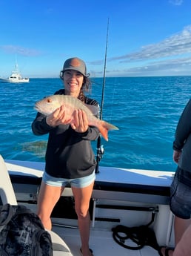
<instances>
[{"instance_id":1,"label":"pinkish fish with reddish tail held by the woman","mask_svg":"<svg viewBox=\"0 0 191 256\"><path fill-rule=\"evenodd\" d=\"M98 128L98 131L108 141L108 131L118 130L118 127L106 122L102 119L97 118L95 115L98 114L98 106L88 105L81 102L80 99L77 99L70 95L63 94L54 94L45 97L44 99L39 100L35 103L34 108L41 114L48 116L56 111L57 108L60 108L61 105L64 105L65 114L70 123L73 122L74 111L81 109L87 114L88 125L95 126Z\"/></svg>"}]
</instances>

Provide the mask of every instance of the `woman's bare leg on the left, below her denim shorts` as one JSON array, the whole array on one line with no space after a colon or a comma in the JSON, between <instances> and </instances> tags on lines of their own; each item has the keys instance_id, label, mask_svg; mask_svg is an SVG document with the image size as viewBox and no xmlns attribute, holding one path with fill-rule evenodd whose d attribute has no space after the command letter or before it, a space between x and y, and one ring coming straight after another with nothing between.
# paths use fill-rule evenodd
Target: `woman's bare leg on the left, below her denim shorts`
<instances>
[{"instance_id":1,"label":"woman's bare leg on the left, below her denim shorts","mask_svg":"<svg viewBox=\"0 0 191 256\"><path fill-rule=\"evenodd\" d=\"M37 200L37 214L45 229L52 229L50 215L58 199L61 197L62 191L64 191L63 187L50 186L43 181L41 182Z\"/></svg>"}]
</instances>

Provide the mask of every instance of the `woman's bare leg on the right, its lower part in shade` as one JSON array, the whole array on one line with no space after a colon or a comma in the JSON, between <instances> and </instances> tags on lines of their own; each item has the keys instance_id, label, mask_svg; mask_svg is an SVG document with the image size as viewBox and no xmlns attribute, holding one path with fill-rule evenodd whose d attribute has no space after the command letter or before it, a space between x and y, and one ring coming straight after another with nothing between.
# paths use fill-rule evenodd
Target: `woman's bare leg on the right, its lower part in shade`
<instances>
[{"instance_id":1,"label":"woman's bare leg on the right, its lower part in shade","mask_svg":"<svg viewBox=\"0 0 191 256\"><path fill-rule=\"evenodd\" d=\"M90 256L89 238L90 238L90 213L89 205L93 191L93 183L85 188L72 188L75 199L75 209L78 215L78 228L81 235L81 251L83 256Z\"/></svg>"}]
</instances>

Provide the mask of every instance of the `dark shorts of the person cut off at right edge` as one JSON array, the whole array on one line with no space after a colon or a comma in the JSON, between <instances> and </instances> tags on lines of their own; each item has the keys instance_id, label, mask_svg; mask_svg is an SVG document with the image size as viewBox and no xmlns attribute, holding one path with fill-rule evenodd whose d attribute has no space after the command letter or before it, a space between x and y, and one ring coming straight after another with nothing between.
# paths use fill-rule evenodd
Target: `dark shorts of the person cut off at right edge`
<instances>
[{"instance_id":1,"label":"dark shorts of the person cut off at right edge","mask_svg":"<svg viewBox=\"0 0 191 256\"><path fill-rule=\"evenodd\" d=\"M170 187L170 209L181 219L191 217L191 173L179 167Z\"/></svg>"}]
</instances>

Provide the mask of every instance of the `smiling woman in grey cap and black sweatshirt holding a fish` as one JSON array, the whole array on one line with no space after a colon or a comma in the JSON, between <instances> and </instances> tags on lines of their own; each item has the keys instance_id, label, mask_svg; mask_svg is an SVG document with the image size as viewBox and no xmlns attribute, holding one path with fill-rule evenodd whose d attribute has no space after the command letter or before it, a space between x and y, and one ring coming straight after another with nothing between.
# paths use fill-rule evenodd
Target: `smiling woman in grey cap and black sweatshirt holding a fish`
<instances>
[{"instance_id":1,"label":"smiling woman in grey cap and black sweatshirt holding a fish","mask_svg":"<svg viewBox=\"0 0 191 256\"><path fill-rule=\"evenodd\" d=\"M76 57L67 59L60 77L64 82L64 89L55 94L74 96L86 104L98 106L96 100L84 95L84 91L90 87L84 61ZM74 122L68 124L68 120L64 118L64 106L61 106L50 116L38 113L32 129L36 135L49 133L45 171L38 194L38 216L44 227L51 229L51 212L64 187L70 183L81 235L80 251L83 256L91 256L93 252L89 249L88 209L96 177L96 160L90 143L97 140L98 128L88 125L87 116L81 110L75 112Z\"/></svg>"}]
</instances>

